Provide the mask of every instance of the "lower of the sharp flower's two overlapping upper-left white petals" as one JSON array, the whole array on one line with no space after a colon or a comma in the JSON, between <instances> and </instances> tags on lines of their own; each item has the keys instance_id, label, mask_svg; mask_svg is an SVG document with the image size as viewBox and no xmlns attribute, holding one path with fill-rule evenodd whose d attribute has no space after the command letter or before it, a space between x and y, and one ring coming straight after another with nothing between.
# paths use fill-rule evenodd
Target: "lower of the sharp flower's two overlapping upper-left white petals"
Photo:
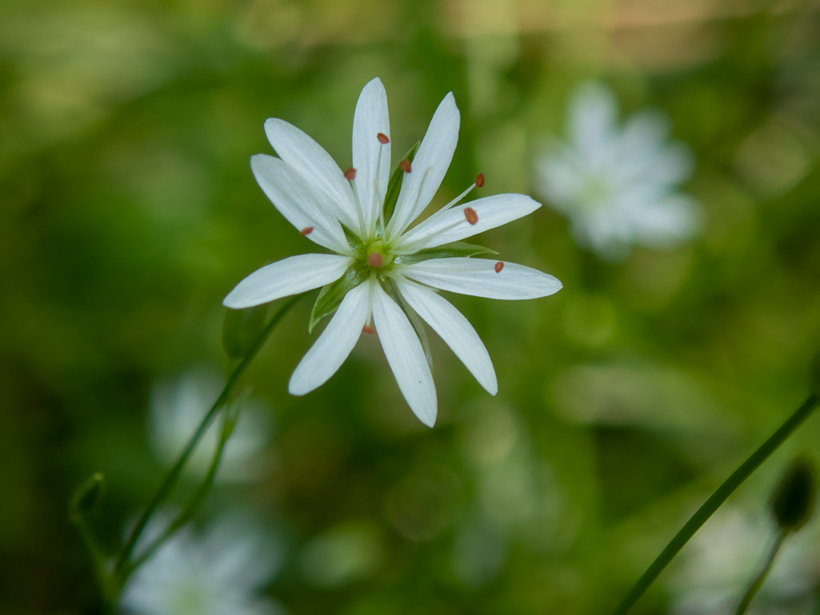
<instances>
[{"instance_id":1,"label":"lower of the sharp flower's two overlapping upper-left white petals","mask_svg":"<svg viewBox=\"0 0 820 615\"><path fill-rule=\"evenodd\" d=\"M302 175L279 158L266 154L251 157L251 171L262 192L290 224L300 231L312 227L307 239L334 252L349 252L339 221L317 203L317 194Z\"/></svg>"}]
</instances>

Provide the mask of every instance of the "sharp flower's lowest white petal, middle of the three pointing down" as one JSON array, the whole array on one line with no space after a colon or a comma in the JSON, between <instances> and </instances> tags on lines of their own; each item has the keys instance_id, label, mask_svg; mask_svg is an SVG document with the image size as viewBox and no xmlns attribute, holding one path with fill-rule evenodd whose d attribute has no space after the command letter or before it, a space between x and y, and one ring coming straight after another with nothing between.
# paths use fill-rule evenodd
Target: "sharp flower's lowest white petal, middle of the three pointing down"
<instances>
[{"instance_id":1,"label":"sharp flower's lowest white petal, middle of the three pointing down","mask_svg":"<svg viewBox=\"0 0 820 615\"><path fill-rule=\"evenodd\" d=\"M373 321L404 399L413 414L432 427L437 411L435 385L421 342L401 307L378 284L373 294Z\"/></svg>"}]
</instances>

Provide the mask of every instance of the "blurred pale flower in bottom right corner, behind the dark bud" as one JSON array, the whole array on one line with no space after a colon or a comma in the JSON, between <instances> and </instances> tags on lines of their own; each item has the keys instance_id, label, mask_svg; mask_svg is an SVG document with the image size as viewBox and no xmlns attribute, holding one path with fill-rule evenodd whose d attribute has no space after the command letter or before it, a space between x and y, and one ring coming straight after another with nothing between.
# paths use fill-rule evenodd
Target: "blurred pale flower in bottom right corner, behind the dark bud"
<instances>
[{"instance_id":1,"label":"blurred pale flower in bottom right corner, behind the dark bud","mask_svg":"<svg viewBox=\"0 0 820 615\"><path fill-rule=\"evenodd\" d=\"M733 613L749 583L760 572L774 540L774 523L741 508L718 511L681 552L669 581L674 615ZM812 612L812 593L820 581L817 523L786 538L749 615Z\"/></svg>"}]
</instances>

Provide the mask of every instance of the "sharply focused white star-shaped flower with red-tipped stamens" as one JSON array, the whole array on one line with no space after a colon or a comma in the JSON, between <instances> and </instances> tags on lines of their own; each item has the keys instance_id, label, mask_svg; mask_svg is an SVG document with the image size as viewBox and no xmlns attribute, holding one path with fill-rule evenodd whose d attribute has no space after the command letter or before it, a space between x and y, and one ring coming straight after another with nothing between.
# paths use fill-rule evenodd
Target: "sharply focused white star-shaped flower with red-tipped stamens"
<instances>
[{"instance_id":1,"label":"sharply focused white star-shaped flower with red-tipped stamens","mask_svg":"<svg viewBox=\"0 0 820 615\"><path fill-rule=\"evenodd\" d=\"M371 80L359 96L353 116L353 167L347 171L298 128L279 119L266 121L267 138L280 157L252 157L253 175L302 235L335 254L303 254L264 266L239 282L223 303L252 307L326 286L314 315L334 310L335 315L296 367L288 386L291 394L307 394L324 384L353 350L362 330L373 332L372 324L408 405L432 426L435 386L417 316L449 344L490 394L497 392L493 364L476 330L435 289L526 299L553 294L561 283L530 267L471 258L488 253L485 248L453 244L540 207L523 194L497 194L458 205L471 189L484 184L483 175L453 202L408 230L444 179L458 141L458 123L458 107L449 93L412 162L399 163L394 177L401 188L393 201L388 190L387 95L379 79ZM385 212L385 202L388 209L395 203L392 216Z\"/></svg>"}]
</instances>

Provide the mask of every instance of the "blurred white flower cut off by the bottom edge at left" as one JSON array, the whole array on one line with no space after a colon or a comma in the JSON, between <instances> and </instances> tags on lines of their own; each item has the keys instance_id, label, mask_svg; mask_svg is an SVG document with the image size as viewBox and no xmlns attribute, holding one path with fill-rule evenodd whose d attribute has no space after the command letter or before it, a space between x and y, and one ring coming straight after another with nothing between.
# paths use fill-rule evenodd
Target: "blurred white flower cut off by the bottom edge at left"
<instances>
[{"instance_id":1,"label":"blurred white flower cut off by the bottom edge at left","mask_svg":"<svg viewBox=\"0 0 820 615\"><path fill-rule=\"evenodd\" d=\"M152 523L141 543L161 530ZM134 615L275 615L278 605L259 594L279 563L276 543L243 519L216 522L202 535L186 528L134 572L120 605Z\"/></svg>"}]
</instances>

